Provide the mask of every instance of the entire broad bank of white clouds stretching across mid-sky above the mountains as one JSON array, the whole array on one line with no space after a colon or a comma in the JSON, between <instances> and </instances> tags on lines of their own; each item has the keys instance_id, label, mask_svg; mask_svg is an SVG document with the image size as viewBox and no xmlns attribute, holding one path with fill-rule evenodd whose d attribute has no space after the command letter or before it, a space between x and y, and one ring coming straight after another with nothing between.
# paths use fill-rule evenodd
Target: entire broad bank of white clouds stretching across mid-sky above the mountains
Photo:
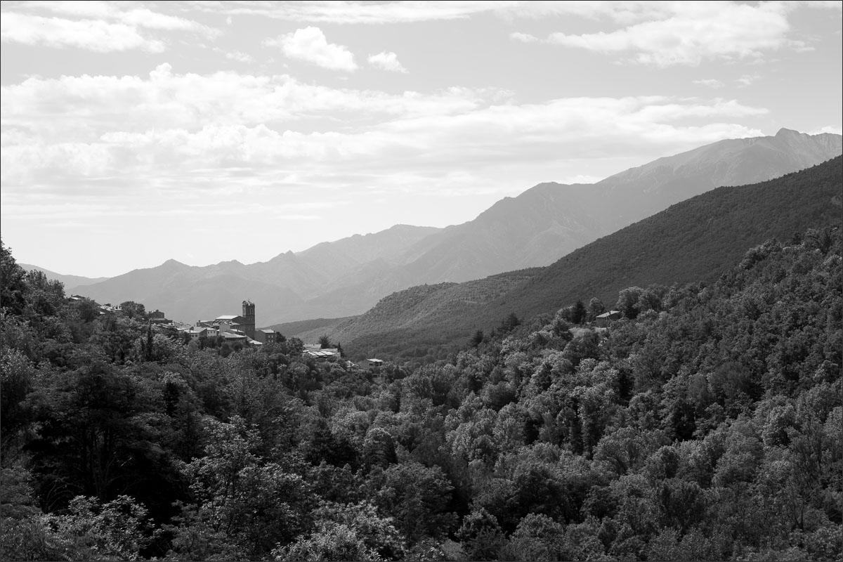
<instances>
[{"instance_id":1,"label":"entire broad bank of white clouds stretching across mid-sky above the mountains","mask_svg":"<svg viewBox=\"0 0 843 562\"><path fill-rule=\"evenodd\" d=\"M525 164L531 173L550 174L561 153L572 161L617 153L656 158L665 150L760 135L738 121L766 114L734 99L518 104L496 89L386 94L284 75L178 74L169 64L147 78L29 78L0 92L4 196L33 186L80 194L95 187L105 196L131 185L175 194L200 185L228 189L232 179L271 185L279 177L303 186L417 190L426 181L442 184L457 169L475 169L470 176L480 183L481 176L497 176L495 170ZM577 174L595 175L566 175ZM97 178L110 180L91 184ZM461 181L448 189L477 187Z\"/></svg>"}]
</instances>

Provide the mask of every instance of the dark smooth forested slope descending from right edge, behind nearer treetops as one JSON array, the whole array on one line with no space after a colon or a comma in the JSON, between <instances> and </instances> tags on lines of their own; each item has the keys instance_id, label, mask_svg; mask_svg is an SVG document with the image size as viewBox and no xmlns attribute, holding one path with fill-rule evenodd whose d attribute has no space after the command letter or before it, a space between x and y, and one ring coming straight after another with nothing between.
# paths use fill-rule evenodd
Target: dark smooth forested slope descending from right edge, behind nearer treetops
<instances>
[{"instance_id":1,"label":"dark smooth forested slope descending from right edge, behind nearer treetops","mask_svg":"<svg viewBox=\"0 0 843 562\"><path fill-rule=\"evenodd\" d=\"M346 323L341 339L352 355L432 360L509 313L531 318L593 297L609 307L627 286L714 281L768 238L839 225L840 185L843 157L760 184L711 190L567 254L491 302L464 302L454 313L436 315L423 313L434 302L413 302L405 307L416 310L410 321L389 318L389 329L381 330L384 318L367 323L362 316Z\"/></svg>"}]
</instances>

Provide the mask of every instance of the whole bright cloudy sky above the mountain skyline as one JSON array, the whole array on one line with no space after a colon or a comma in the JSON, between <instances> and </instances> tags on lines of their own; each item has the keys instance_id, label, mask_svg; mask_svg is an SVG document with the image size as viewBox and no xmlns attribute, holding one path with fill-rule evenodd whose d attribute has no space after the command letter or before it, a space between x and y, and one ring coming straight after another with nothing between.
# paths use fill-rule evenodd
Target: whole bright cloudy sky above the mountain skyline
<instances>
[{"instance_id":1,"label":"whole bright cloudy sky above the mountain skyline","mask_svg":"<svg viewBox=\"0 0 843 562\"><path fill-rule=\"evenodd\" d=\"M841 6L2 2L3 244L64 275L250 264L840 134Z\"/></svg>"}]
</instances>

